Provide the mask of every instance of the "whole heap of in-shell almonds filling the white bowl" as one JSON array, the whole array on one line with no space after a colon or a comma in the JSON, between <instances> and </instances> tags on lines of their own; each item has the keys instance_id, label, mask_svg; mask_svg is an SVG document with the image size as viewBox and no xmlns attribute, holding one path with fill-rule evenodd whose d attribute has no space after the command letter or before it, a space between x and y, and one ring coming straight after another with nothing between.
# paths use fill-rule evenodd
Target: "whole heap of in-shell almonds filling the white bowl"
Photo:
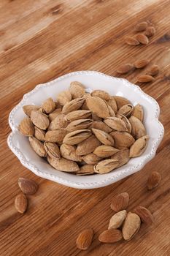
<instances>
[{"instance_id":1,"label":"whole heap of in-shell almonds filling the white bowl","mask_svg":"<svg viewBox=\"0 0 170 256\"><path fill-rule=\"evenodd\" d=\"M75 81L42 106L25 105L19 130L39 157L56 170L90 175L109 173L139 157L147 147L144 111L107 91L90 94Z\"/></svg>"}]
</instances>

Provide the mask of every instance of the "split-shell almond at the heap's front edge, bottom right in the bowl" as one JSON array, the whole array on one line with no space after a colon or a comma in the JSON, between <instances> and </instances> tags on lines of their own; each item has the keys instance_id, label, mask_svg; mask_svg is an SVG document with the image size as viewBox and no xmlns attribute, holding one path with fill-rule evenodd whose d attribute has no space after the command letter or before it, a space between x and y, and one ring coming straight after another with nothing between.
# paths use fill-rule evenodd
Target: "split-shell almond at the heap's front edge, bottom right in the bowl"
<instances>
[{"instance_id":1,"label":"split-shell almond at the heap's front edge, bottom right in the bowl","mask_svg":"<svg viewBox=\"0 0 170 256\"><path fill-rule=\"evenodd\" d=\"M100 174L109 173L115 168L117 168L118 165L119 165L119 162L117 160L106 159L101 162L98 162L98 164L94 166L94 171L95 173L100 173Z\"/></svg>"}]
</instances>

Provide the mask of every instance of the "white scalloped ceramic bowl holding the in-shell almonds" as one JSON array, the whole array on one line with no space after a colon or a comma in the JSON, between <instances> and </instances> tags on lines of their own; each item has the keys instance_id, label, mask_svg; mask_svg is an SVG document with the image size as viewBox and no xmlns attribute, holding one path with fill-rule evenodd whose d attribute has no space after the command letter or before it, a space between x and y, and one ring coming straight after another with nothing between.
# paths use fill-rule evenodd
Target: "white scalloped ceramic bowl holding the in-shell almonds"
<instances>
[{"instance_id":1,"label":"white scalloped ceramic bowl holding the in-shell almonds","mask_svg":"<svg viewBox=\"0 0 170 256\"><path fill-rule=\"evenodd\" d=\"M126 165L107 174L76 176L55 170L44 159L34 153L28 143L28 138L18 132L18 124L25 116L23 105L41 105L47 97L55 99L56 95L60 91L68 89L69 84L74 80L80 81L88 90L103 89L108 91L109 94L130 99L134 105L139 103L143 106L144 125L150 140L142 156L131 159ZM141 170L155 156L155 151L163 138L164 132L163 125L158 121L159 113L160 108L155 99L145 94L139 86L129 83L128 80L114 78L96 71L72 72L49 83L38 85L34 90L23 96L21 102L9 114L9 125L12 132L7 142L21 164L37 176L78 189L104 187Z\"/></svg>"}]
</instances>

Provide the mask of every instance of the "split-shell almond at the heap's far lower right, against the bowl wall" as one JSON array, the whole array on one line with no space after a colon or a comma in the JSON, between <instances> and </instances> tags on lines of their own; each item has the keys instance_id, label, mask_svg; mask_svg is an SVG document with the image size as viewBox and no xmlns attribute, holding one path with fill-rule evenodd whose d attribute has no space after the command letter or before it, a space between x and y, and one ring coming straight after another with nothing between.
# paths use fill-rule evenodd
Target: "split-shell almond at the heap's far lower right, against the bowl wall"
<instances>
[{"instance_id":1,"label":"split-shell almond at the heap's far lower right, against the bowl wall","mask_svg":"<svg viewBox=\"0 0 170 256\"><path fill-rule=\"evenodd\" d=\"M143 136L135 141L135 143L130 148L129 157L139 157L141 156L145 149L147 148L147 141L149 140L149 136Z\"/></svg>"}]
</instances>

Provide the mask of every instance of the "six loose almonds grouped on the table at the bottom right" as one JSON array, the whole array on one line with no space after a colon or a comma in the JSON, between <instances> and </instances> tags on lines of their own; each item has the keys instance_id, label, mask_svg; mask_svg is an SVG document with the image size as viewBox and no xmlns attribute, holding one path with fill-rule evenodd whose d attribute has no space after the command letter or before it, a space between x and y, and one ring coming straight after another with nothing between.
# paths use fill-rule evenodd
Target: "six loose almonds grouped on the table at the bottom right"
<instances>
[{"instance_id":1,"label":"six loose almonds grouped on the table at the bottom right","mask_svg":"<svg viewBox=\"0 0 170 256\"><path fill-rule=\"evenodd\" d=\"M112 199L111 208L115 214L109 220L108 229L98 236L101 243L113 244L123 239L129 241L138 233L141 222L145 225L152 224L152 214L143 206L137 206L133 211L127 212L128 201L127 192L118 194ZM91 228L83 230L77 237L77 248L88 249L92 241L93 230Z\"/></svg>"}]
</instances>

